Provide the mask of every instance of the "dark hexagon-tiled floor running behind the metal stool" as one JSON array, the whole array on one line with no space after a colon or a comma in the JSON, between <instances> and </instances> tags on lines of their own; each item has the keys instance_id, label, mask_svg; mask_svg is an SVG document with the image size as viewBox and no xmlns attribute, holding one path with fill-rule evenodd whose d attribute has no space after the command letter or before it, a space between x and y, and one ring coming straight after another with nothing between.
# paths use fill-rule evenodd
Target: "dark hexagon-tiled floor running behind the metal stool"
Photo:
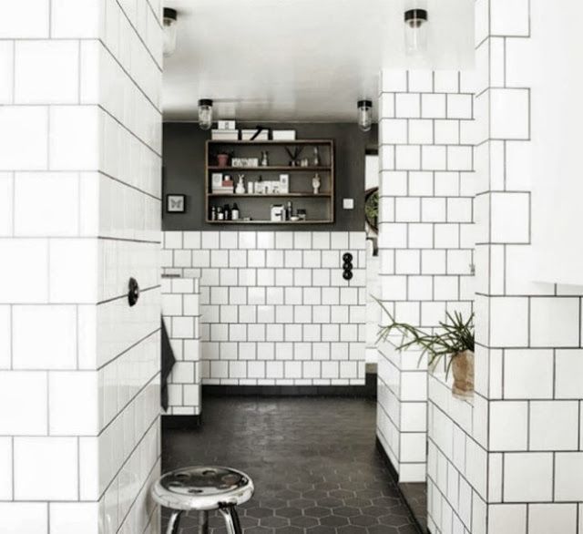
<instances>
[{"instance_id":1,"label":"dark hexagon-tiled floor running behind the metal stool","mask_svg":"<svg viewBox=\"0 0 583 534\"><path fill-rule=\"evenodd\" d=\"M205 397L203 406L203 426L165 431L163 470L246 471L256 492L240 507L245 534L417 532L375 449L373 401ZM210 525L224 534L216 516ZM195 532L196 517L185 517L181 534Z\"/></svg>"}]
</instances>

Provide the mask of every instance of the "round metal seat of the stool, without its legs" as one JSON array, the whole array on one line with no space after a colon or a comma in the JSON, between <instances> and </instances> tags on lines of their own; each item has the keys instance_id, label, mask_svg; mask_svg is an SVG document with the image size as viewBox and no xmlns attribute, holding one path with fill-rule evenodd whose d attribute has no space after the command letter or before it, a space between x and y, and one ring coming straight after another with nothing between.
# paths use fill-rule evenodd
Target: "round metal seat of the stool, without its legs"
<instances>
[{"instance_id":1,"label":"round metal seat of the stool, without its legs","mask_svg":"<svg viewBox=\"0 0 583 534\"><path fill-rule=\"evenodd\" d=\"M152 498L166 508L214 510L247 502L253 482L230 467L185 467L162 475L152 486Z\"/></svg>"}]
</instances>

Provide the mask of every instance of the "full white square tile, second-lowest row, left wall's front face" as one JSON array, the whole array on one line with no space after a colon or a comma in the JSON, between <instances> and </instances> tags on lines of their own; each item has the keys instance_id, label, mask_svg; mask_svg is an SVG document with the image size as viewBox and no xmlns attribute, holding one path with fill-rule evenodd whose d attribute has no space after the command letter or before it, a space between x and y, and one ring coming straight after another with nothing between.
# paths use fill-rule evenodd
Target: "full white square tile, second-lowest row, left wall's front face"
<instances>
[{"instance_id":1,"label":"full white square tile, second-lowest row, left wall's front face","mask_svg":"<svg viewBox=\"0 0 583 534\"><path fill-rule=\"evenodd\" d=\"M77 499L77 438L15 437L14 447L16 499Z\"/></svg>"}]
</instances>

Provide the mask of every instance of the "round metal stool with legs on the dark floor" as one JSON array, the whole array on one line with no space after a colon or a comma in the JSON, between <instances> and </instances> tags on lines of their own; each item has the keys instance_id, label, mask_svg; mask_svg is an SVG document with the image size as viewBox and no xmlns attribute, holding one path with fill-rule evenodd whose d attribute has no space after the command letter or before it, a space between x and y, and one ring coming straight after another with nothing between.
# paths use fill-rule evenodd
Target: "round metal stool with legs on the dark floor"
<instances>
[{"instance_id":1,"label":"round metal stool with legs on the dark floor","mask_svg":"<svg viewBox=\"0 0 583 534\"><path fill-rule=\"evenodd\" d=\"M152 498L170 508L166 534L178 534L180 516L185 511L199 512L199 534L209 532L209 510L220 511L227 532L241 534L235 507L253 495L253 482L245 473L230 467L185 467L170 471L152 486Z\"/></svg>"}]
</instances>

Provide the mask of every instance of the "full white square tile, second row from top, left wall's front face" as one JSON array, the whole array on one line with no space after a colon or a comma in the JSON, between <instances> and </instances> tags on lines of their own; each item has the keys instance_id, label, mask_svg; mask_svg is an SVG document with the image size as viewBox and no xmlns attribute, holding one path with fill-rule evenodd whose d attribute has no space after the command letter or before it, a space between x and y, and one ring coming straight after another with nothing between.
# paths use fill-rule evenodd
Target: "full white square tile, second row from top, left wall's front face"
<instances>
[{"instance_id":1,"label":"full white square tile, second row from top, left wall's front face","mask_svg":"<svg viewBox=\"0 0 583 534\"><path fill-rule=\"evenodd\" d=\"M76 41L16 42L15 103L73 104L78 98Z\"/></svg>"}]
</instances>

